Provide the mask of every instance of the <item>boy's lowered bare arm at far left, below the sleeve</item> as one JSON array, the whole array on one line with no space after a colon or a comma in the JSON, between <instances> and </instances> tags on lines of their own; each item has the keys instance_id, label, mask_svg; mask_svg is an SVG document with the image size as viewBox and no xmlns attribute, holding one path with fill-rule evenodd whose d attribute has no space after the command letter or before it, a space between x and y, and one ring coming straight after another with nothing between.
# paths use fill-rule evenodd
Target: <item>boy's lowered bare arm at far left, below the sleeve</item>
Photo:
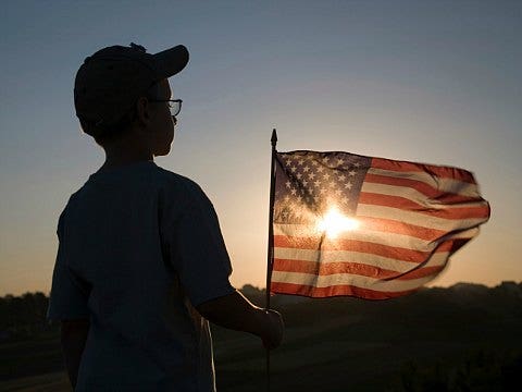
<instances>
[{"instance_id":1,"label":"boy's lowered bare arm at far left, below the sleeve","mask_svg":"<svg viewBox=\"0 0 522 392\"><path fill-rule=\"evenodd\" d=\"M62 320L60 338L65 367L73 389L76 387L79 363L87 341L89 326L88 319Z\"/></svg>"}]
</instances>

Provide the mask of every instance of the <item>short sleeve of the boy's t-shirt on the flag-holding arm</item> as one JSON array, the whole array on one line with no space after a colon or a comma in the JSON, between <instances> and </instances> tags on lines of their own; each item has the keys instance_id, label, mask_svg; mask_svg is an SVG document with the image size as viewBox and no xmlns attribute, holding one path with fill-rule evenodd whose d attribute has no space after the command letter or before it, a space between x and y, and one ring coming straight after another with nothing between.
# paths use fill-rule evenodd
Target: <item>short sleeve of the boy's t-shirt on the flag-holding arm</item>
<instances>
[{"instance_id":1,"label":"short sleeve of the boy's t-shirt on the flag-holding arm","mask_svg":"<svg viewBox=\"0 0 522 392\"><path fill-rule=\"evenodd\" d=\"M165 217L164 234L171 265L190 303L198 306L235 289L228 281L232 266L214 208L199 186L189 185L183 210L176 217Z\"/></svg>"}]
</instances>

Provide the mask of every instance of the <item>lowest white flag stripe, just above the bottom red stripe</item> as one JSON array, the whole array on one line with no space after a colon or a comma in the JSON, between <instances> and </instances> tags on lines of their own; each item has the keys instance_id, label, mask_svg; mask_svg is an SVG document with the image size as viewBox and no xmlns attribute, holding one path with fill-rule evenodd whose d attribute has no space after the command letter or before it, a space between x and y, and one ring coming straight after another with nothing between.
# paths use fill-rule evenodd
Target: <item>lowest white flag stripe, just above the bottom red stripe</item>
<instances>
[{"instance_id":1,"label":"lowest white flag stripe, just above the bottom red stripe","mask_svg":"<svg viewBox=\"0 0 522 392\"><path fill-rule=\"evenodd\" d=\"M411 280L380 280L351 273L335 273L331 275L315 275L300 272L272 272L273 283L293 283L314 287L330 287L335 285L352 285L361 289L370 289L385 292L401 292L418 289L433 280L437 273Z\"/></svg>"}]
</instances>

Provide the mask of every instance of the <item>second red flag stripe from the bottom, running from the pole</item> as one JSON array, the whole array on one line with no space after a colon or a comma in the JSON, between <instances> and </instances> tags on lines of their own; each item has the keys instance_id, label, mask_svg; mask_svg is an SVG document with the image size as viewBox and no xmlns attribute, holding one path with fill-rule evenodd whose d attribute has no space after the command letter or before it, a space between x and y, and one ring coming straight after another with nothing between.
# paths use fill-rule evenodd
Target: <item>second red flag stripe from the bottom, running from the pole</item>
<instances>
[{"instance_id":1,"label":"second red flag stripe from the bottom, running from the pole","mask_svg":"<svg viewBox=\"0 0 522 392\"><path fill-rule=\"evenodd\" d=\"M348 261L315 262L315 261L308 261L308 260L287 260L287 259L275 258L273 270L282 271L282 272L310 273L314 275L350 273L350 274L370 277L375 279L397 278L398 280L410 280L410 279L424 278L424 277L437 273L440 270L443 270L444 267L445 266L424 267L424 268L412 269L409 272L397 272L397 271L387 270L384 268L369 266L360 262L348 262Z\"/></svg>"}]
</instances>

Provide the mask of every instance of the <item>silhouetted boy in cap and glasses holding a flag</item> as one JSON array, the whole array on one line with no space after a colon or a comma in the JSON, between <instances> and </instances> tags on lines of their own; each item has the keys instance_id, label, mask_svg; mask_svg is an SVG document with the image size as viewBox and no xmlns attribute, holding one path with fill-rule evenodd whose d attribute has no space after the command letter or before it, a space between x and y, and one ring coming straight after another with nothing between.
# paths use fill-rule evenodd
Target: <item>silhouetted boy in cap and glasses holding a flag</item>
<instances>
[{"instance_id":1,"label":"silhouetted boy in cap and glasses holding a flag","mask_svg":"<svg viewBox=\"0 0 522 392\"><path fill-rule=\"evenodd\" d=\"M61 320L77 391L214 391L207 320L279 345L276 311L249 303L232 272L212 204L192 181L158 167L181 100L167 77L188 51L113 46L87 58L74 87L82 128L105 162L58 223L48 317Z\"/></svg>"}]
</instances>

